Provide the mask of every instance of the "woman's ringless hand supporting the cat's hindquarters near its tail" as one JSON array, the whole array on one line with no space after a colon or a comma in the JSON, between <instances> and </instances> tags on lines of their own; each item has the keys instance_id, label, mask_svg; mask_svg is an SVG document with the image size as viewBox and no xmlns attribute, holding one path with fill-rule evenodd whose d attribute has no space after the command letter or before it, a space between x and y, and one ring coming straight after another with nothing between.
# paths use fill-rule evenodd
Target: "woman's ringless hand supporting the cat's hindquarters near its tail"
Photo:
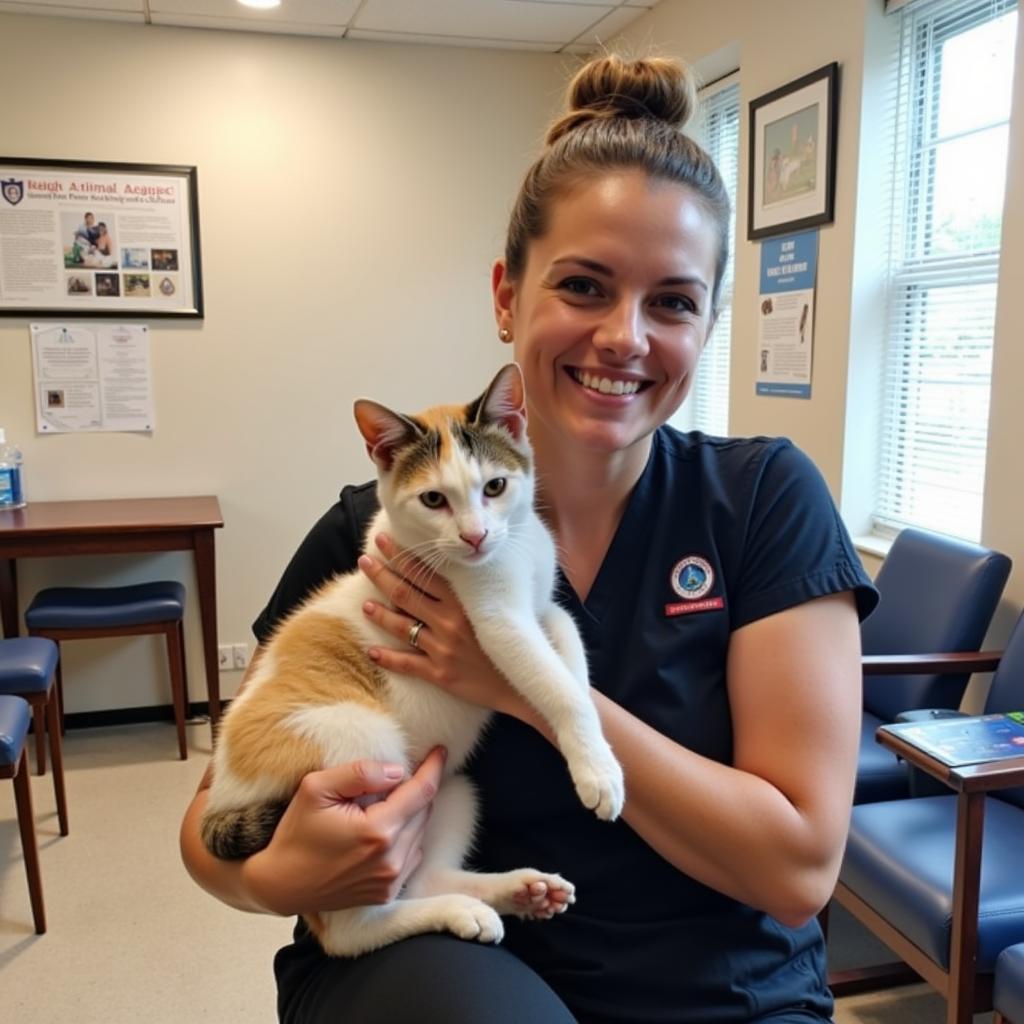
<instances>
[{"instance_id":1,"label":"woman's ringless hand supporting the cat's hindquarters near its tail","mask_svg":"<svg viewBox=\"0 0 1024 1024\"><path fill-rule=\"evenodd\" d=\"M423 858L423 830L440 785L435 748L402 781L377 761L307 775L269 845L242 864L253 900L273 913L340 910L394 899ZM378 802L364 806L375 797Z\"/></svg>"}]
</instances>

